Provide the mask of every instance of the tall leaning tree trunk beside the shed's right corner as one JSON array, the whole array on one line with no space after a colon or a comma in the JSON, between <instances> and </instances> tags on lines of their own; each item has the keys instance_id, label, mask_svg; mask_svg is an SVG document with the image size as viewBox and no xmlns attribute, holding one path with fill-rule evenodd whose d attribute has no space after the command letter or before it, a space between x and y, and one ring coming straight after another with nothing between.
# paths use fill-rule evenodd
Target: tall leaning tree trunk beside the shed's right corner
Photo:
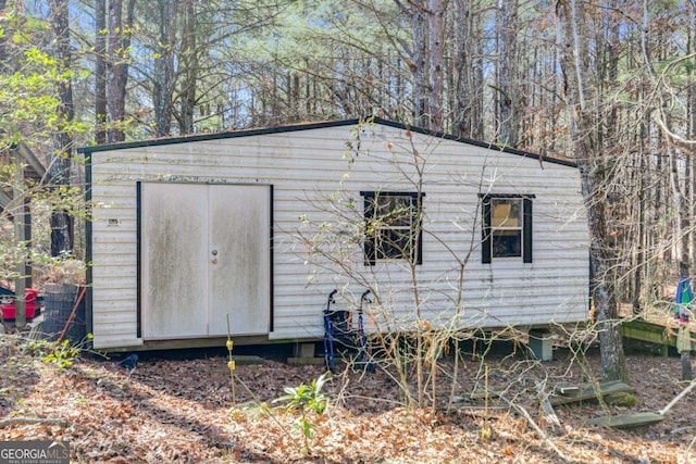
<instances>
[{"instance_id":1,"label":"tall leaning tree trunk beside the shed's right corner","mask_svg":"<svg viewBox=\"0 0 696 464\"><path fill-rule=\"evenodd\" d=\"M608 281L609 250L605 243L606 213L601 202L606 172L598 147L598 127L591 106L593 84L586 60L586 13L575 0L557 0L559 61L569 109L571 147L582 177L582 191L589 224L591 287L597 312L602 377L627 381L617 302Z\"/></svg>"}]
</instances>

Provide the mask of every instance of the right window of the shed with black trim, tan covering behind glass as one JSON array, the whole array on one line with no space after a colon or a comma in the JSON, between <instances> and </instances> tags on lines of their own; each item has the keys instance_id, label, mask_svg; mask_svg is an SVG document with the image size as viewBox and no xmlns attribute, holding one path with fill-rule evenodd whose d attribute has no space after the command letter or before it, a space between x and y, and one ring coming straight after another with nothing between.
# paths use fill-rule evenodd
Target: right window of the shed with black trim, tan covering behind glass
<instances>
[{"instance_id":1,"label":"right window of the shed with black trim, tan covering behind glass","mask_svg":"<svg viewBox=\"0 0 696 464\"><path fill-rule=\"evenodd\" d=\"M521 195L484 195L481 262L521 258L532 262L532 199Z\"/></svg>"}]
</instances>

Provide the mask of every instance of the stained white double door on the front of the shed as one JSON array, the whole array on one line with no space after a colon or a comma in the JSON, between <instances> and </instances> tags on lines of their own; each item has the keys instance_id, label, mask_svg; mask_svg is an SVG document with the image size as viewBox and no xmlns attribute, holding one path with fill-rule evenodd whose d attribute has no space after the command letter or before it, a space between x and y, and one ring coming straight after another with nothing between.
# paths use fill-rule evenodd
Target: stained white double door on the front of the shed
<instances>
[{"instance_id":1,"label":"stained white double door on the front of the shed","mask_svg":"<svg viewBox=\"0 0 696 464\"><path fill-rule=\"evenodd\" d=\"M269 331L269 186L144 183L144 339Z\"/></svg>"}]
</instances>

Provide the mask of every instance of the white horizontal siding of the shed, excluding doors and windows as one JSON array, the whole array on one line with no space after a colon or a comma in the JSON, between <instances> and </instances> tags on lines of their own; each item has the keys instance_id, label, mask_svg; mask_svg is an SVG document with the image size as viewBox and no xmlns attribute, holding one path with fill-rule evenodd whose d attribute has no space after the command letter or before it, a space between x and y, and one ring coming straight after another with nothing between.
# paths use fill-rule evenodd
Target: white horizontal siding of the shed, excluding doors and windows
<instances>
[{"instance_id":1,"label":"white horizontal siding of the shed, excluding doors and windows","mask_svg":"<svg viewBox=\"0 0 696 464\"><path fill-rule=\"evenodd\" d=\"M274 188L274 339L321 337L321 310L334 287L350 305L363 291L339 273L313 273L298 241L336 217L315 208L332 193L362 208L360 191L414 191L413 153L403 130L363 133L353 162L346 156L350 127L327 127L229 139L199 140L91 153L94 333L97 348L138 344L136 181L271 184ZM480 193L534 195L534 262L481 264L476 248L465 264L462 325L500 327L584 321L588 298L587 228L575 168L517 154L413 134L424 161L423 264L418 285L423 315L446 323L455 314L459 264L481 238ZM391 142L391 149L387 143ZM397 167L398 166L398 167ZM308 201L309 200L309 201ZM323 203L325 204L325 203ZM356 211L360 220L360 211ZM300 216L307 215L309 225ZM109 218L117 225L109 225ZM447 248L432 235L445 241ZM384 311L414 317L410 277L397 263L355 269L380 291ZM311 275L311 284L308 285ZM185 291L185 289L183 289ZM382 309L371 310L376 313ZM380 317L375 316L377 323Z\"/></svg>"}]
</instances>

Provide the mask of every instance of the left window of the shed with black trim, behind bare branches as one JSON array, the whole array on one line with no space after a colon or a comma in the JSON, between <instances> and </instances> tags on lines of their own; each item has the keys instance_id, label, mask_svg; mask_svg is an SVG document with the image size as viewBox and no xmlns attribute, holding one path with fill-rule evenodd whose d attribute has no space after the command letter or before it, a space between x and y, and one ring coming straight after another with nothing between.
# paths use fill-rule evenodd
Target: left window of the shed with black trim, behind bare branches
<instances>
[{"instance_id":1,"label":"left window of the shed with black trim, behind bare branches","mask_svg":"<svg viewBox=\"0 0 696 464\"><path fill-rule=\"evenodd\" d=\"M421 264L420 197L414 192L362 191L365 218L365 264L408 260Z\"/></svg>"}]
</instances>

